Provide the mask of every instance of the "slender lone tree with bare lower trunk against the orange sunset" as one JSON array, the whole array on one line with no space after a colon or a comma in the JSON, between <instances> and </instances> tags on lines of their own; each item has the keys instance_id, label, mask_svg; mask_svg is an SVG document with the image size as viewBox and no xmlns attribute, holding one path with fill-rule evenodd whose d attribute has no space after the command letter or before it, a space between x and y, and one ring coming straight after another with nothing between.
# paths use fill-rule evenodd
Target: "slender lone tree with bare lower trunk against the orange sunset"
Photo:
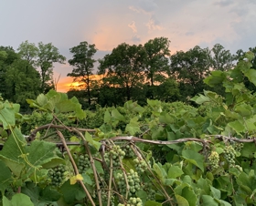
<instances>
[{"instance_id":1,"label":"slender lone tree with bare lower trunk against the orange sunset","mask_svg":"<svg viewBox=\"0 0 256 206\"><path fill-rule=\"evenodd\" d=\"M73 70L68 76L84 85L87 91L88 103L91 105L91 75L96 62L92 57L97 52L97 48L95 48L95 45L89 45L84 41L80 42L79 46L74 46L69 50L73 54L73 58L69 59L69 65L73 67Z\"/></svg>"}]
</instances>

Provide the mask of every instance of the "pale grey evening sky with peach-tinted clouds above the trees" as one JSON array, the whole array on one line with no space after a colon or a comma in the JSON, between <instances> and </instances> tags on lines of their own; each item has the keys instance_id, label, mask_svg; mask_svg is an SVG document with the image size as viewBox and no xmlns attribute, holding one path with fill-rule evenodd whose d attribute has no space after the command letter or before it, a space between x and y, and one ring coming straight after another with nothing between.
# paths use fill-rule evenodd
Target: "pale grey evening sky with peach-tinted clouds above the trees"
<instances>
[{"instance_id":1,"label":"pale grey evening sky with peach-tinted clouds above the trees","mask_svg":"<svg viewBox=\"0 0 256 206\"><path fill-rule=\"evenodd\" d=\"M256 0L12 0L0 2L0 46L52 43L69 48L87 41L99 59L122 43L167 37L171 54L220 44L234 54L256 46ZM97 65L95 66L95 70ZM72 83L72 67L56 64L58 90Z\"/></svg>"}]
</instances>

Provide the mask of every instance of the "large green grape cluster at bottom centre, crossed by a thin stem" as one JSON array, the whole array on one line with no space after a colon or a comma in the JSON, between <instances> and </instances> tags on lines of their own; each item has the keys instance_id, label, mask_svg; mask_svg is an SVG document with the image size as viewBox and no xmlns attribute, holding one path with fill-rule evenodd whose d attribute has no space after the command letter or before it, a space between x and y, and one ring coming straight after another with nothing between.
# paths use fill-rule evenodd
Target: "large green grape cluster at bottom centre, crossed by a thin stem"
<instances>
[{"instance_id":1,"label":"large green grape cluster at bottom centre, crossed by a thin stem","mask_svg":"<svg viewBox=\"0 0 256 206\"><path fill-rule=\"evenodd\" d=\"M120 193L125 195L127 185L123 173L117 173L116 179ZM130 172L127 173L127 181L129 185L129 197L131 197L135 194L136 191L139 191L141 189L140 178L138 176L138 173L133 170L130 170Z\"/></svg>"}]
</instances>

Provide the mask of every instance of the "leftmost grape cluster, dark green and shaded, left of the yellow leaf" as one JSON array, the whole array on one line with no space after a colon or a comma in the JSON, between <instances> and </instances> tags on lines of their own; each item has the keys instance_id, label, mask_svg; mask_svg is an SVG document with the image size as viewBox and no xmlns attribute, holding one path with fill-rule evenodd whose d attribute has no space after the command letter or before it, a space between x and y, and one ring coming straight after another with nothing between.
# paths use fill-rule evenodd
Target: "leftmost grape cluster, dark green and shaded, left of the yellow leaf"
<instances>
[{"instance_id":1,"label":"leftmost grape cluster, dark green and shaded, left of the yellow leaf","mask_svg":"<svg viewBox=\"0 0 256 206\"><path fill-rule=\"evenodd\" d=\"M65 179L65 166L59 165L58 167L54 169L48 170L48 177L51 180L51 185L59 187L63 180Z\"/></svg>"}]
</instances>

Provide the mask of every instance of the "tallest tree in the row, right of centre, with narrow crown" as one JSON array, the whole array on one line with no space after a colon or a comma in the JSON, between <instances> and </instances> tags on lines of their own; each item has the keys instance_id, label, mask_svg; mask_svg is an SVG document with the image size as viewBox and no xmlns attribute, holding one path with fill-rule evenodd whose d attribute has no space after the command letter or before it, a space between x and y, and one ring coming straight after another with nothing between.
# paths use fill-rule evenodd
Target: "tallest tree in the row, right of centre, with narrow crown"
<instances>
[{"instance_id":1,"label":"tallest tree in the row, right of centre, with narrow crown","mask_svg":"<svg viewBox=\"0 0 256 206\"><path fill-rule=\"evenodd\" d=\"M146 52L145 74L150 85L155 82L163 82L169 71L170 41L166 37L157 37L144 44Z\"/></svg>"}]
</instances>

